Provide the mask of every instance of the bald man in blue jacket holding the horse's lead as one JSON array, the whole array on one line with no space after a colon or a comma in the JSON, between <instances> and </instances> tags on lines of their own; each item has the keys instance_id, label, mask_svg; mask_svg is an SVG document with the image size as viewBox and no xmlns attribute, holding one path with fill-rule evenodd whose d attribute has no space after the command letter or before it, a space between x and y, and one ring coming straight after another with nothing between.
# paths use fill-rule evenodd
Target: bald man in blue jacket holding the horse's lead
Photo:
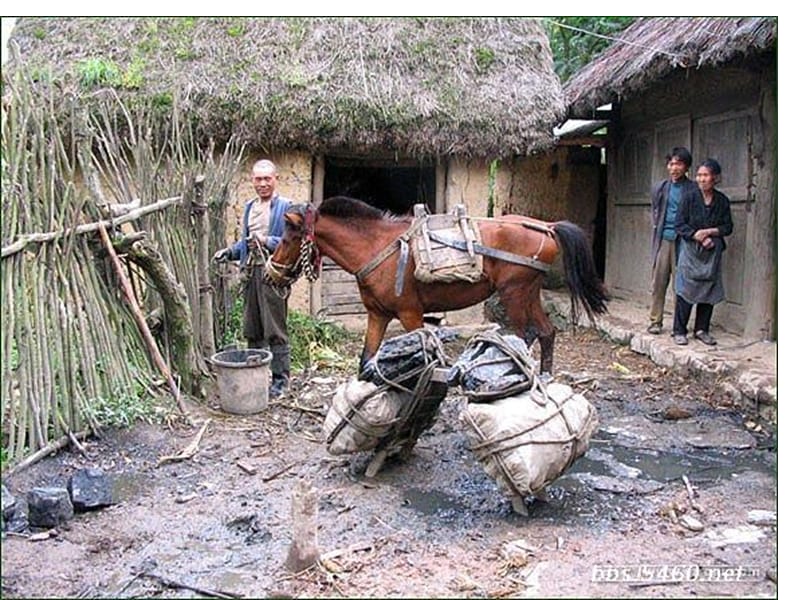
<instances>
[{"instance_id":1,"label":"bald man in blue jacket holding the horse's lead","mask_svg":"<svg viewBox=\"0 0 800 600\"><path fill-rule=\"evenodd\" d=\"M278 169L272 161L253 165L253 188L242 219L242 237L214 254L214 260L238 260L244 283L244 337L248 348L272 352L270 397L281 396L289 383L288 294L264 278L267 257L283 236L284 214L292 201L278 195Z\"/></svg>"}]
</instances>

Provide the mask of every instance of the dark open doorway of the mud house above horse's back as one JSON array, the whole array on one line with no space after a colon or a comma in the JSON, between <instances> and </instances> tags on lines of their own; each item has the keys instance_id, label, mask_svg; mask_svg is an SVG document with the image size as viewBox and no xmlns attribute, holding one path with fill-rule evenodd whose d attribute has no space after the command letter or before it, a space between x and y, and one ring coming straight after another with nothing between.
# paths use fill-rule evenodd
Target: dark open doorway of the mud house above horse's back
<instances>
[{"instance_id":1,"label":"dark open doorway of the mud house above horse's back","mask_svg":"<svg viewBox=\"0 0 800 600\"><path fill-rule=\"evenodd\" d=\"M395 214L436 207L436 167L417 161L326 157L323 196L350 196Z\"/></svg>"}]
</instances>

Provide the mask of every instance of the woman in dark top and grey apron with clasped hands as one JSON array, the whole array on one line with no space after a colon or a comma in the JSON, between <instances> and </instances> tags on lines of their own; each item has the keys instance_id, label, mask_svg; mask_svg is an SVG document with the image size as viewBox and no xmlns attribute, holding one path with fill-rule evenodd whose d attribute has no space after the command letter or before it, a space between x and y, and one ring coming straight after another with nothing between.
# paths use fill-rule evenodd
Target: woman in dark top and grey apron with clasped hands
<instances>
[{"instance_id":1,"label":"woman in dark top and grey apron with clasped hands","mask_svg":"<svg viewBox=\"0 0 800 600\"><path fill-rule=\"evenodd\" d=\"M709 333L711 313L725 298L722 252L725 236L733 231L730 200L715 188L721 173L716 160L703 161L695 177L699 190L681 201L675 219L680 242L672 335L681 346L689 343L686 334L693 305L697 305L694 337L709 346L717 343Z\"/></svg>"}]
</instances>

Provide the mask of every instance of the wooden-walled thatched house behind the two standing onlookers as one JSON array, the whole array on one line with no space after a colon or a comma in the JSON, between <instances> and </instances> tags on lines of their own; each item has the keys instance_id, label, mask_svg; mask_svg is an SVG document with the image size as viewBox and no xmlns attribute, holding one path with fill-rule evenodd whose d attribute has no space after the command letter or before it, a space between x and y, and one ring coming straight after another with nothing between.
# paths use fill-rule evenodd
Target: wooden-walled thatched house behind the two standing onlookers
<instances>
[{"instance_id":1,"label":"wooden-walled thatched house behind the two standing onlookers","mask_svg":"<svg viewBox=\"0 0 800 600\"><path fill-rule=\"evenodd\" d=\"M612 105L603 111L606 285L650 303L650 190L667 177L666 154L685 146L695 166L708 157L721 163L720 189L731 200L715 326L776 339L777 19L646 17L619 37L565 86L571 116L600 116L598 107Z\"/></svg>"}]
</instances>

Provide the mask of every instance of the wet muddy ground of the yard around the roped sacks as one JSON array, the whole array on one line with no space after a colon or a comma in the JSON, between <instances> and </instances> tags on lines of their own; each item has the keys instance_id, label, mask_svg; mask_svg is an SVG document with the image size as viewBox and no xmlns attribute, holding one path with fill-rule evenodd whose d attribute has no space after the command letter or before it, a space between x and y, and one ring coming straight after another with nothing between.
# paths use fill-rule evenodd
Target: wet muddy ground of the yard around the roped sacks
<instances>
[{"instance_id":1,"label":"wet muddy ground of the yard around the roped sacks","mask_svg":"<svg viewBox=\"0 0 800 600\"><path fill-rule=\"evenodd\" d=\"M109 432L85 444L87 456L64 451L14 475L5 483L23 493L99 467L117 503L49 537L6 537L2 595L776 595L777 526L751 513L777 508L769 427L731 409L718 382L668 372L594 331L561 333L555 369L597 407L600 429L546 498L527 500L528 517L473 457L457 390L411 458L370 479L369 454L331 456L321 439L333 391L351 374L318 371L295 376L292 394L259 415L196 406L194 429ZM207 418L191 459L157 466ZM301 480L318 492L327 556L291 573Z\"/></svg>"}]
</instances>

